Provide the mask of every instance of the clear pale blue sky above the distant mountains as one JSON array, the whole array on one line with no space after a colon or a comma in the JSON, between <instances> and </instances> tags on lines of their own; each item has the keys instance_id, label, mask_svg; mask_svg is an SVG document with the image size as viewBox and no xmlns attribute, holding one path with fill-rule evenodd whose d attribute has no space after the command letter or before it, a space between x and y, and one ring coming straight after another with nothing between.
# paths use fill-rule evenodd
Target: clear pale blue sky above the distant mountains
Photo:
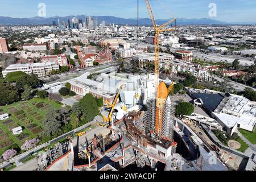
<instances>
[{"instance_id":1,"label":"clear pale blue sky above the distant mountains","mask_svg":"<svg viewBox=\"0 0 256 182\"><path fill-rule=\"evenodd\" d=\"M150 0L156 19L210 18L209 3L216 3L217 16L224 22L256 22L256 0ZM174 15L166 11L162 2ZM137 0L0 0L0 16L31 18L38 15L38 4L46 4L46 16L113 15L121 18L137 17ZM148 16L144 0L139 0L139 16Z\"/></svg>"}]
</instances>

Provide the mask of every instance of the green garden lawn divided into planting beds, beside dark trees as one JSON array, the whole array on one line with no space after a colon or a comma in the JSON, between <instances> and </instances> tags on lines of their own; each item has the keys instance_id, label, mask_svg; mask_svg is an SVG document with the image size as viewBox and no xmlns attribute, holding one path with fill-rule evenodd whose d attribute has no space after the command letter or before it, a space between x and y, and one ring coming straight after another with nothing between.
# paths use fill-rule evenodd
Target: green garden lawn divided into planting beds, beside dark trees
<instances>
[{"instance_id":1,"label":"green garden lawn divided into planting beds, beside dark trees","mask_svg":"<svg viewBox=\"0 0 256 182\"><path fill-rule=\"evenodd\" d=\"M25 140L38 137L43 131L42 121L52 109L61 109L61 105L48 98L33 98L1 106L1 113L8 113L9 119L0 121L0 155L13 144L20 147ZM18 126L23 127L23 133L13 135L12 129Z\"/></svg>"}]
</instances>

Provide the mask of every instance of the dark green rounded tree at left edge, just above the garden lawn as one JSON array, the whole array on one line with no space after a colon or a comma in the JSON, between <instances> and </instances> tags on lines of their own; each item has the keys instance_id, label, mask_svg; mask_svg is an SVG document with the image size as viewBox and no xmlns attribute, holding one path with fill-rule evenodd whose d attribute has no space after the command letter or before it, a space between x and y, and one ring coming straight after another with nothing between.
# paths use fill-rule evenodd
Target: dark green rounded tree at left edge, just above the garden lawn
<instances>
[{"instance_id":1,"label":"dark green rounded tree at left edge, just above the garden lawn","mask_svg":"<svg viewBox=\"0 0 256 182\"><path fill-rule=\"evenodd\" d=\"M0 90L0 105L19 101L19 90L15 86L0 82Z\"/></svg>"}]
</instances>

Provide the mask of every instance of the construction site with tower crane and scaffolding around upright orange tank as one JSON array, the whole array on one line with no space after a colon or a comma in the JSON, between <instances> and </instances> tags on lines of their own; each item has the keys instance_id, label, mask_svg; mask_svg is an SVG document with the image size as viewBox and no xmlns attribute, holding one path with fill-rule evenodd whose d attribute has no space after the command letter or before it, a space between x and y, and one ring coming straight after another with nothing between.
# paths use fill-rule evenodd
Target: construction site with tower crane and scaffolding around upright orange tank
<instances>
[{"instance_id":1,"label":"construction site with tower crane and scaffolding around upright orange tank","mask_svg":"<svg viewBox=\"0 0 256 182\"><path fill-rule=\"evenodd\" d=\"M203 134L200 124L204 124L205 130L222 130L214 119L198 115L175 117L176 103L172 96L175 83L159 82L159 34L175 31L176 19L157 26L150 2L145 2L155 28L154 75L133 78L117 78L115 72L101 75L100 80L110 83L109 87L114 84L112 92L115 93L111 99L104 99L105 111L99 127L106 128L107 132L92 137L77 136L76 143L70 139L65 153L57 144L38 156L39 170L226 171L239 168L243 158L221 150ZM165 28L172 22L175 27ZM78 86L85 81L97 85L97 79L93 82L85 76L78 78ZM114 77L112 82L110 78ZM106 89L104 83L101 89Z\"/></svg>"}]
</instances>

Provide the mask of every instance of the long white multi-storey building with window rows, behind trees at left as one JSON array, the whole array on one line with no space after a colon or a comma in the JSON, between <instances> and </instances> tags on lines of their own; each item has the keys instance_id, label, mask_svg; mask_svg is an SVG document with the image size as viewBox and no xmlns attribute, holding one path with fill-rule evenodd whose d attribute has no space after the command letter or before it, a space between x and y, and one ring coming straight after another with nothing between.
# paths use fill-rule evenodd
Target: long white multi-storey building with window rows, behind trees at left
<instances>
[{"instance_id":1,"label":"long white multi-storey building with window rows, behind trees at left","mask_svg":"<svg viewBox=\"0 0 256 182\"><path fill-rule=\"evenodd\" d=\"M11 64L5 69L5 71L2 72L2 74L5 78L7 73L22 71L27 73L28 75L34 74L38 77L44 77L52 71L59 69L59 65L52 63Z\"/></svg>"}]
</instances>

